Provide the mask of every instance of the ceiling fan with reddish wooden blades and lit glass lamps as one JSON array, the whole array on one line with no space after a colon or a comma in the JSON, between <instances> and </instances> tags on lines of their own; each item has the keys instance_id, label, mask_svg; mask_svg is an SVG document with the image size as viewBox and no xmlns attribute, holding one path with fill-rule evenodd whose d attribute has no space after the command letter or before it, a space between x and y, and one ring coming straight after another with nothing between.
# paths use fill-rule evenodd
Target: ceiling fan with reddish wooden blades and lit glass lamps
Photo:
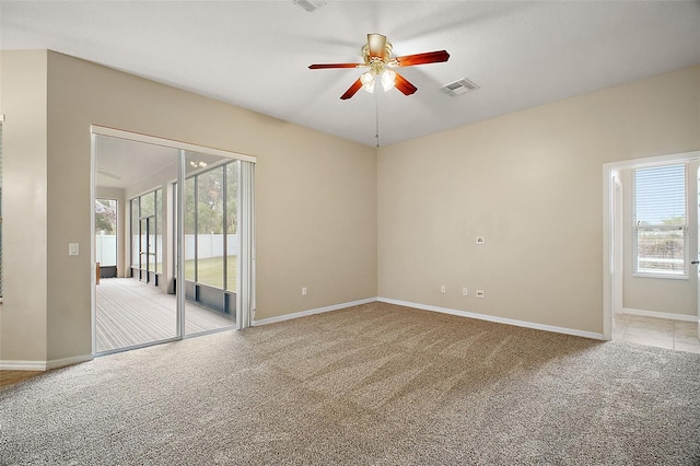
<instances>
[{"instance_id":1,"label":"ceiling fan with reddish wooden blades and lit glass lamps","mask_svg":"<svg viewBox=\"0 0 700 466\"><path fill-rule=\"evenodd\" d=\"M343 101L352 97L361 88L368 92L374 92L375 82L382 82L384 91L392 88L398 89L404 95L411 95L418 88L408 82L406 78L392 70L396 67L412 67L413 65L436 63L447 61L450 54L446 50L427 51L423 54L392 57L392 44L382 34L368 34L368 43L362 47L363 63L322 63L311 65L312 70L329 68L370 68L340 96Z\"/></svg>"}]
</instances>

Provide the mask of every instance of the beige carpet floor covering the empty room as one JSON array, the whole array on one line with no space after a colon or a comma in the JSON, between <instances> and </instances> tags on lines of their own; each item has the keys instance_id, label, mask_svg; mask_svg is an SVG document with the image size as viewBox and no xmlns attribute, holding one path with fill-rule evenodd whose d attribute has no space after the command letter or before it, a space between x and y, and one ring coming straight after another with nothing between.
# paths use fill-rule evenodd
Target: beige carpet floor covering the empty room
<instances>
[{"instance_id":1,"label":"beige carpet floor covering the empty room","mask_svg":"<svg viewBox=\"0 0 700 466\"><path fill-rule=\"evenodd\" d=\"M13 464L692 465L700 354L372 303L0 392Z\"/></svg>"}]
</instances>

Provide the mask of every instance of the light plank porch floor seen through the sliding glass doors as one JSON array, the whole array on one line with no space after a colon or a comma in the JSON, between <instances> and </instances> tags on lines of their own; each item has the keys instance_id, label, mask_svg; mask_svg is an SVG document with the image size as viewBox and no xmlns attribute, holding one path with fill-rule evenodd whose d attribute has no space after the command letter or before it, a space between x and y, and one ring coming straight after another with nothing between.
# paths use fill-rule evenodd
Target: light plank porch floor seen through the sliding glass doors
<instances>
[{"instance_id":1,"label":"light plank porch floor seen through the sliding glass doors","mask_svg":"<svg viewBox=\"0 0 700 466\"><path fill-rule=\"evenodd\" d=\"M96 292L96 351L149 343L176 336L175 295L133 278L103 279ZM228 317L186 301L185 335L232 327Z\"/></svg>"}]
</instances>

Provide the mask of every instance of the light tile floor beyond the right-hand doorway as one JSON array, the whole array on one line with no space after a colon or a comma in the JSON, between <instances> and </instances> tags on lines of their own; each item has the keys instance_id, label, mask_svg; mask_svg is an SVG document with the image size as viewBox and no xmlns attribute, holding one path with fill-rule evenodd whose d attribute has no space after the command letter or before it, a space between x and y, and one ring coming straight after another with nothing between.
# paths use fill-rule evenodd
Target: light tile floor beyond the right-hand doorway
<instances>
[{"instance_id":1,"label":"light tile floor beyond the right-hand doorway","mask_svg":"<svg viewBox=\"0 0 700 466\"><path fill-rule=\"evenodd\" d=\"M612 319L612 339L700 353L698 324L617 314Z\"/></svg>"}]
</instances>

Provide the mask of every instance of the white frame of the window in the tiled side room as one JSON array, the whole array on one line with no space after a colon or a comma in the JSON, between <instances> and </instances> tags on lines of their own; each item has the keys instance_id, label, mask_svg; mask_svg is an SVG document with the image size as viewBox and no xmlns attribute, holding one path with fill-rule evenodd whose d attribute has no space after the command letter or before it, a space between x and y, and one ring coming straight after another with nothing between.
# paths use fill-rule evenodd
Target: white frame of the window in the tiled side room
<instances>
[{"instance_id":1,"label":"white frame of the window in the tiled side room","mask_svg":"<svg viewBox=\"0 0 700 466\"><path fill-rule=\"evenodd\" d=\"M684 210L685 210L685 223L682 225L650 225L643 226L639 225L638 214L637 214L637 172L639 170L651 170L651 168L663 168L668 166L678 166L682 165L684 167ZM666 279L666 280L688 280L690 278L689 273L689 264L690 264L690 251L689 251L689 164L687 162L682 163L665 163L653 166L643 166L638 168L632 168L632 277L638 278L655 278L655 279ZM646 271L640 270L639 268L639 233L640 231L682 231L682 272L661 272L661 271Z\"/></svg>"}]
</instances>

